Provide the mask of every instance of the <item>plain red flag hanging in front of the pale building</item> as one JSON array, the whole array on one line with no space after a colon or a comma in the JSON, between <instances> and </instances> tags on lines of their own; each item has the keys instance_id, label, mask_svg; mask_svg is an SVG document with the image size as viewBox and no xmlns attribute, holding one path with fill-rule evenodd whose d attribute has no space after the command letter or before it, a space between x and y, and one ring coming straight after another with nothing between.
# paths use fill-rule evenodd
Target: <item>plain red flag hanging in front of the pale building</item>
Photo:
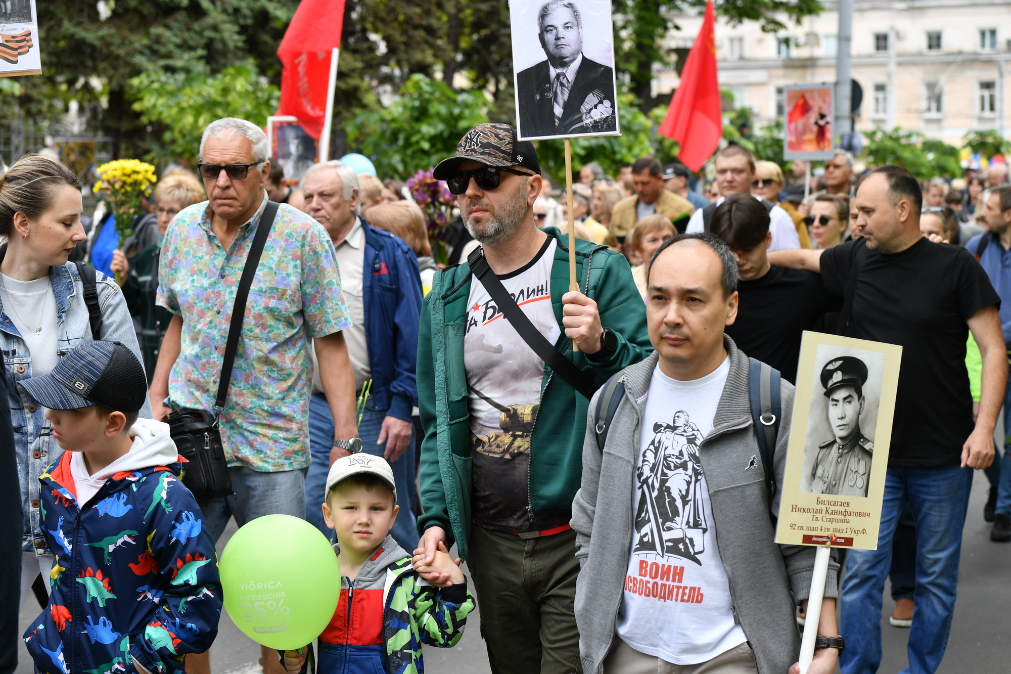
<instances>
[{"instance_id":1,"label":"plain red flag hanging in front of the pale building","mask_svg":"<svg viewBox=\"0 0 1011 674\"><path fill-rule=\"evenodd\" d=\"M716 67L716 13L713 0L681 70L681 82L670 99L660 135L677 141L681 163L698 171L720 145L723 107Z\"/></svg>"}]
</instances>

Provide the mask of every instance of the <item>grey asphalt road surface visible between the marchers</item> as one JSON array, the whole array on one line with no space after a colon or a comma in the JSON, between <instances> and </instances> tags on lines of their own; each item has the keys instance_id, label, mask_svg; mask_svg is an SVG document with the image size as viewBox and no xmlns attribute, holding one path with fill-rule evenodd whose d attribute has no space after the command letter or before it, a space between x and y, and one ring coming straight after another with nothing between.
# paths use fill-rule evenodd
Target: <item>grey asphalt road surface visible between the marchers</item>
<instances>
[{"instance_id":1,"label":"grey asphalt road surface visible between the marchers","mask_svg":"<svg viewBox=\"0 0 1011 674\"><path fill-rule=\"evenodd\" d=\"M987 497L986 478L978 473L973 489L970 514L966 523L958 582L958 603L947 653L939 674L1006 674L1011 671L1011 634L1008 630L1008 609L1011 608L1011 544L990 541L990 526L983 521L983 503ZM233 523L227 536L235 531ZM908 666L906 640L908 629L897 629L888 623L892 599L885 592L882 611L884 660L880 672L895 674ZM37 604L27 602L21 611L21 629L27 628L38 614ZM476 612L468 620L467 631L456 648L442 650L426 648L425 660L429 674L490 674L484 643L477 629ZM214 648L211 667L215 674L259 674L256 665L259 647L246 638L222 616ZM31 674L25 658L17 674Z\"/></svg>"}]
</instances>

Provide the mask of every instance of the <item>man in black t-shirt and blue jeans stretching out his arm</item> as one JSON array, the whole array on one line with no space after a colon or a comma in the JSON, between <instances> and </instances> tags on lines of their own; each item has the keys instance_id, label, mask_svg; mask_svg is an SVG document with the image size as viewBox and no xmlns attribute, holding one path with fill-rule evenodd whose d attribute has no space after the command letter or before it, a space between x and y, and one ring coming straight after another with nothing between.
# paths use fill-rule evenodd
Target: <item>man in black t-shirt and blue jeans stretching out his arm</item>
<instances>
[{"instance_id":1,"label":"man in black t-shirt and blue jeans stretching out his arm","mask_svg":"<svg viewBox=\"0 0 1011 674\"><path fill-rule=\"evenodd\" d=\"M845 334L903 347L878 550L850 552L842 587L843 674L874 672L881 664L882 592L907 503L918 538L911 669L934 672L940 664L954 612L972 469L994 459L1007 383L1000 298L968 251L922 238L921 205L916 178L884 166L856 193L862 239L769 255L775 264L820 271L825 288L839 297L862 261ZM969 330L983 354L975 424L964 363Z\"/></svg>"}]
</instances>

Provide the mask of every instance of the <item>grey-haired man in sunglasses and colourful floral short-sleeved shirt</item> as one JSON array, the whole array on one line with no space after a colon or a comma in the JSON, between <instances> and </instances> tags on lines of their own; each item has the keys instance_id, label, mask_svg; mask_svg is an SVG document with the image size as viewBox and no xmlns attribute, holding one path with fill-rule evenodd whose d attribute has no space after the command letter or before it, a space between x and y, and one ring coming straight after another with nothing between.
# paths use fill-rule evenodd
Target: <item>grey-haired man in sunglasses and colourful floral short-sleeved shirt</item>
<instances>
[{"instance_id":1,"label":"grey-haired man in sunglasses and colourful floral short-sleeved shirt","mask_svg":"<svg viewBox=\"0 0 1011 674\"><path fill-rule=\"evenodd\" d=\"M151 385L156 418L168 414L169 400L205 410L214 404L236 289L267 205L269 172L267 138L256 124L226 117L204 131L200 175L209 200L181 210L162 242L158 304L173 319ZM235 493L200 504L212 540L233 515L242 526L263 515L305 514L310 339L337 420L335 439L357 439L355 382L341 333L350 326L330 236L281 204L250 288L220 416ZM264 649L264 663L270 672L283 671L274 651Z\"/></svg>"}]
</instances>

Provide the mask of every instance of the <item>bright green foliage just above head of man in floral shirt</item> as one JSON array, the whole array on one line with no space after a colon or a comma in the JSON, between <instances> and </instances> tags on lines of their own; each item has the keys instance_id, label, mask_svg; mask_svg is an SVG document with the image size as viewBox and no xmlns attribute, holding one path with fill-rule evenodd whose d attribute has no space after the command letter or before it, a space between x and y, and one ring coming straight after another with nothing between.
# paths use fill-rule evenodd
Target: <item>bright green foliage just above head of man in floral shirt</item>
<instances>
[{"instance_id":1,"label":"bright green foliage just above head of man in floral shirt","mask_svg":"<svg viewBox=\"0 0 1011 674\"><path fill-rule=\"evenodd\" d=\"M141 121L164 129L152 140L148 158L156 162L196 162L204 128L219 117L240 117L265 127L277 110L280 90L260 77L247 60L217 75L147 71L130 79L139 94L133 109Z\"/></svg>"}]
</instances>

